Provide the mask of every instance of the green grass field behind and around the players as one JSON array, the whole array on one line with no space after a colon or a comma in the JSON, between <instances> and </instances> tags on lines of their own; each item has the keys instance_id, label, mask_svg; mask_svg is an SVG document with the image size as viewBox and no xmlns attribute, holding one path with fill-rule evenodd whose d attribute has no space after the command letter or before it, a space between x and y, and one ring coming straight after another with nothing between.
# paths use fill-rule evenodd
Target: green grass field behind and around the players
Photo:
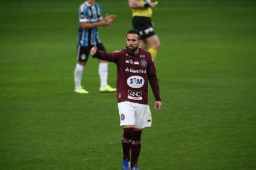
<instances>
[{"instance_id":1,"label":"green grass field behind and around the players","mask_svg":"<svg viewBox=\"0 0 256 170\"><path fill-rule=\"evenodd\" d=\"M96 59L83 76L90 94L73 93L82 2L0 2L0 169L122 168L116 95L99 93ZM124 48L127 1L98 3L117 14L100 28L107 51ZM149 94L139 167L256 169L256 1L160 0L153 21L163 106Z\"/></svg>"}]
</instances>

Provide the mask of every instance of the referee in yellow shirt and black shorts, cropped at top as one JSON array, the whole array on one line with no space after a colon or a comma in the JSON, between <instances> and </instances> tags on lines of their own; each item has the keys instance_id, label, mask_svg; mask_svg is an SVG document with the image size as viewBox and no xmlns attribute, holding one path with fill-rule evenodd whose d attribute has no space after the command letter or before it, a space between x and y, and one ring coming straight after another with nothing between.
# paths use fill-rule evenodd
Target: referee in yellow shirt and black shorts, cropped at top
<instances>
[{"instance_id":1,"label":"referee in yellow shirt and black shorts, cropped at top","mask_svg":"<svg viewBox=\"0 0 256 170\"><path fill-rule=\"evenodd\" d=\"M151 21L152 9L156 7L158 2L151 3L151 1L144 0L129 0L129 7L132 9L132 26L139 30L141 34L140 48L146 49L148 43L150 44L149 52L154 60L160 47L160 40L156 33L154 33L153 23Z\"/></svg>"}]
</instances>

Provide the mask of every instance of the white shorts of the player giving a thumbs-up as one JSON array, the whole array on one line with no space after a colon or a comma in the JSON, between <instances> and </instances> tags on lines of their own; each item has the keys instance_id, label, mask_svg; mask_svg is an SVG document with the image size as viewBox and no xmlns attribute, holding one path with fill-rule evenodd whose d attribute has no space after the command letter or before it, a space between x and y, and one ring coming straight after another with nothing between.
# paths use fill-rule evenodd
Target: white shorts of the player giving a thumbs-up
<instances>
[{"instance_id":1,"label":"white shorts of the player giving a thumbs-up","mask_svg":"<svg viewBox=\"0 0 256 170\"><path fill-rule=\"evenodd\" d=\"M123 101L119 108L120 126L134 125L135 128L151 127L152 118L148 105Z\"/></svg>"}]
</instances>

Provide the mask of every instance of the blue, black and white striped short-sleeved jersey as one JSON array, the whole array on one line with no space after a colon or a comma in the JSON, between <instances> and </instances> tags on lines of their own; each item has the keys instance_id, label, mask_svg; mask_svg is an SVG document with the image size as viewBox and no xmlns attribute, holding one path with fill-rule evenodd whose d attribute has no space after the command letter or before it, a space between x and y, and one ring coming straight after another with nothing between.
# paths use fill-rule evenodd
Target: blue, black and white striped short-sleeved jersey
<instances>
[{"instance_id":1,"label":"blue, black and white striped short-sleeved jersey","mask_svg":"<svg viewBox=\"0 0 256 170\"><path fill-rule=\"evenodd\" d=\"M102 20L102 11L99 4L91 6L85 2L78 9L79 29L78 29L78 45L90 46L101 43L97 27L83 30L80 23L96 23Z\"/></svg>"}]
</instances>

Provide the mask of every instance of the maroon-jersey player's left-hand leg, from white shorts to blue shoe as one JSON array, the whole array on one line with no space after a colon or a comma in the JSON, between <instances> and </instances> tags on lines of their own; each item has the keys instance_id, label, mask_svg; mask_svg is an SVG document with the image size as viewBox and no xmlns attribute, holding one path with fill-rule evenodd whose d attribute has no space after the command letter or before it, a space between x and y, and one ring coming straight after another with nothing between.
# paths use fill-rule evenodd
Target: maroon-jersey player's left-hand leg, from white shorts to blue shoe
<instances>
[{"instance_id":1,"label":"maroon-jersey player's left-hand leg, from white shorts to blue shoe","mask_svg":"<svg viewBox=\"0 0 256 170\"><path fill-rule=\"evenodd\" d=\"M130 170L130 150L132 136L134 134L135 110L131 102L124 101L118 103L120 126L123 127L122 149L123 149L123 170Z\"/></svg>"}]
</instances>

